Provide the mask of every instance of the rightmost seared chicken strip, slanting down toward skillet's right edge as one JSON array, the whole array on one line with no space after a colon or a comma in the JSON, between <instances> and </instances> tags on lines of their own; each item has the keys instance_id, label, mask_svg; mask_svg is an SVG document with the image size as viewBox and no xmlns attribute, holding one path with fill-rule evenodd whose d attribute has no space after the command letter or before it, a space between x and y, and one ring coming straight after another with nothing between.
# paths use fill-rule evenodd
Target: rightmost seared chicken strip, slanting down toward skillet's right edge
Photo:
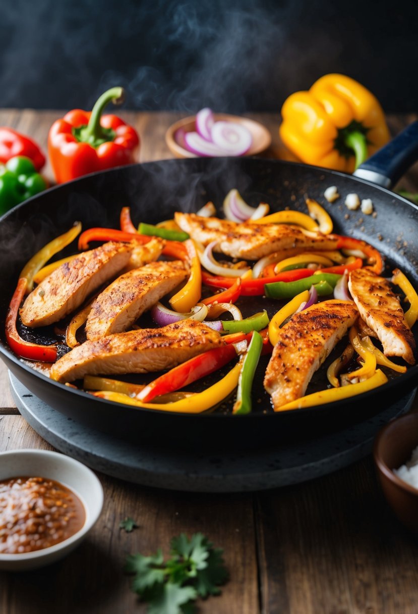
<instances>
[{"instance_id":1,"label":"rightmost seared chicken strip, slanting down toward skillet's right edge","mask_svg":"<svg viewBox=\"0 0 418 614\"><path fill-rule=\"evenodd\" d=\"M360 316L374 330L386 356L401 356L413 365L416 344L389 281L368 268L351 271L348 287Z\"/></svg>"}]
</instances>

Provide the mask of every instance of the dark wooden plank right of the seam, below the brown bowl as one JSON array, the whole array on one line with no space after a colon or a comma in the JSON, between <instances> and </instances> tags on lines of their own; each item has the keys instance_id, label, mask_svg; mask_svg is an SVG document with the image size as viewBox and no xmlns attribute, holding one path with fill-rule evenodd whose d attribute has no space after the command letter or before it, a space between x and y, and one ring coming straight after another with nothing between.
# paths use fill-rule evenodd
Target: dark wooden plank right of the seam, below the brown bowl
<instances>
[{"instance_id":1,"label":"dark wooden plank right of the seam, below the brown bowl","mask_svg":"<svg viewBox=\"0 0 418 614\"><path fill-rule=\"evenodd\" d=\"M257 496L263 614L416 612L418 542L371 459Z\"/></svg>"}]
</instances>

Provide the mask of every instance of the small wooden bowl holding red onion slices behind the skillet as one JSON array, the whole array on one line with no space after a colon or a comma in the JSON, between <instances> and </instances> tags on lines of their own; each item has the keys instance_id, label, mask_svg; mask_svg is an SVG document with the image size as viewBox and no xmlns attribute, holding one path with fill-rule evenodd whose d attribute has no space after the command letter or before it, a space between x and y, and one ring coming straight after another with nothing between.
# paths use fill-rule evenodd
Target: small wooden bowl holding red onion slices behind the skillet
<instances>
[{"instance_id":1,"label":"small wooden bowl holding red onion slices behind the skillet","mask_svg":"<svg viewBox=\"0 0 418 614\"><path fill-rule=\"evenodd\" d=\"M253 143L251 144L248 152L245 153L246 156L257 155L257 153L261 153L267 149L267 147L270 147L272 135L267 128L265 128L259 122L254 122L254 120L248 119L247 117L238 117L238 115L226 115L222 113L215 114L215 120L227 120L230 122L239 123L241 126L245 126L245 128L251 132ZM167 143L167 147L169 147L170 152L172 152L176 158L197 158L195 153L184 149L184 147L181 147L181 145L177 142L175 135L178 130L184 130L186 132L196 130L195 115L192 115L191 117L184 117L184 119L173 123L165 133L165 142Z\"/></svg>"}]
</instances>

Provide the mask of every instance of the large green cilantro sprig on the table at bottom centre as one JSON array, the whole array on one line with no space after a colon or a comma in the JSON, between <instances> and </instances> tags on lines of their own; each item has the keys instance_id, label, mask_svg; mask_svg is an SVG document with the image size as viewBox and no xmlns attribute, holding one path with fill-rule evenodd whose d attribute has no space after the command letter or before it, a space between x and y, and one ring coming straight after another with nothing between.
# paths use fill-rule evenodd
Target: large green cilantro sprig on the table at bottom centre
<instances>
[{"instance_id":1,"label":"large green cilantro sprig on the table at bottom centre","mask_svg":"<svg viewBox=\"0 0 418 614\"><path fill-rule=\"evenodd\" d=\"M228 579L222 554L202 533L181 534L172 539L167 561L161 550L131 554L125 572L135 574L132 591L148 603L148 614L192 614L198 597L221 593Z\"/></svg>"}]
</instances>

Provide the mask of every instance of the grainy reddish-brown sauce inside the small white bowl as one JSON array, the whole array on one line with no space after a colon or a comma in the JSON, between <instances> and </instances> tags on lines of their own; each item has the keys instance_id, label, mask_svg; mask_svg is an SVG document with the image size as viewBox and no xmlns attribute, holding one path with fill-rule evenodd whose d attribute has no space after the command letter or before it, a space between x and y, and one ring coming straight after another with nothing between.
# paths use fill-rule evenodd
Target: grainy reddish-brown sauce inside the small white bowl
<instances>
[{"instance_id":1,"label":"grainy reddish-brown sauce inside the small white bowl","mask_svg":"<svg viewBox=\"0 0 418 614\"><path fill-rule=\"evenodd\" d=\"M85 519L77 495L55 480L0 480L0 554L49 548L77 533Z\"/></svg>"}]
</instances>

